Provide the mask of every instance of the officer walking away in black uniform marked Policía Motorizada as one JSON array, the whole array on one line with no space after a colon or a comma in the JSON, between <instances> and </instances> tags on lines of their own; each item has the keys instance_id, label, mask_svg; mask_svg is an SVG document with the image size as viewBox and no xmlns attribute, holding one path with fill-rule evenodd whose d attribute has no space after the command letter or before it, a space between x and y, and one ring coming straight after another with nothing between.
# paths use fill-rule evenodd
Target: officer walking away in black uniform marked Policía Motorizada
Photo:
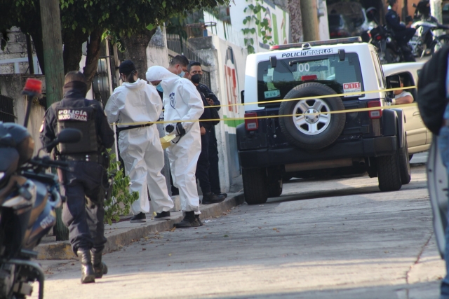
<instances>
[{"instance_id":1,"label":"officer walking away in black uniform marked Polic\u00eda Motorizada","mask_svg":"<svg viewBox=\"0 0 449 299\"><path fill-rule=\"evenodd\" d=\"M72 249L81 261L81 283L95 282L107 273L102 263L106 238L103 200L107 189L107 163L104 153L114 144L114 132L107 123L102 106L86 99L86 77L79 71L65 76L64 98L48 108L41 127L43 146L50 144L66 127L81 130L76 144L60 144L58 160L69 162L70 172L60 173L65 189L62 221L69 228ZM52 149L47 148L50 152ZM87 197L87 200L86 200Z\"/></svg>"}]
</instances>

